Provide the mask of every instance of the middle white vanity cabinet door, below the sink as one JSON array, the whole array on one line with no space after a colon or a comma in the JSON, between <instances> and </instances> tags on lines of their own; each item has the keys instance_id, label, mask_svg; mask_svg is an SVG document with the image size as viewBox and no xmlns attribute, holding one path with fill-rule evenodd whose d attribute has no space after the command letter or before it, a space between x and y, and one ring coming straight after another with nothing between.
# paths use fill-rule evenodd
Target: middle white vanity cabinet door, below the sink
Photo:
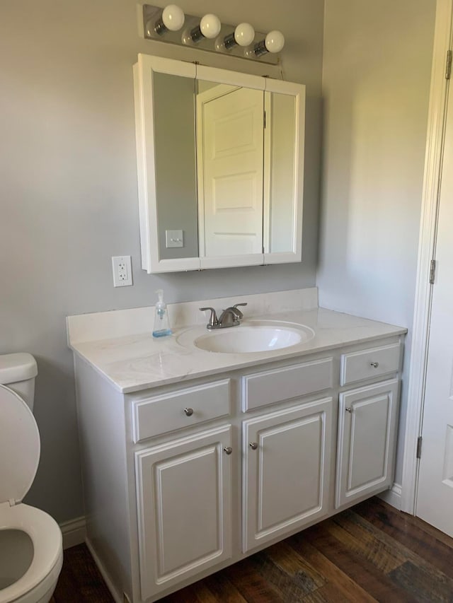
<instances>
[{"instance_id":1,"label":"middle white vanity cabinet door, below the sink","mask_svg":"<svg viewBox=\"0 0 453 603\"><path fill-rule=\"evenodd\" d=\"M332 398L243 422L243 551L328 513Z\"/></svg>"}]
</instances>

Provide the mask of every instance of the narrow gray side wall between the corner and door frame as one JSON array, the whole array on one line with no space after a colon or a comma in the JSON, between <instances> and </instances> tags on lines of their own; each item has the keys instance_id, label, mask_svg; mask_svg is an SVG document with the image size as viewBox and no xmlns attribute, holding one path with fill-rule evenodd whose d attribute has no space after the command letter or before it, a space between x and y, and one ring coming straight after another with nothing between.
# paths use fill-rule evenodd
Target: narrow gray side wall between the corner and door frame
<instances>
[{"instance_id":1,"label":"narrow gray side wall between the corner and door frame","mask_svg":"<svg viewBox=\"0 0 453 603\"><path fill-rule=\"evenodd\" d=\"M411 329L435 1L326 0L320 305ZM396 481L406 414L406 339Z\"/></svg>"}]
</instances>

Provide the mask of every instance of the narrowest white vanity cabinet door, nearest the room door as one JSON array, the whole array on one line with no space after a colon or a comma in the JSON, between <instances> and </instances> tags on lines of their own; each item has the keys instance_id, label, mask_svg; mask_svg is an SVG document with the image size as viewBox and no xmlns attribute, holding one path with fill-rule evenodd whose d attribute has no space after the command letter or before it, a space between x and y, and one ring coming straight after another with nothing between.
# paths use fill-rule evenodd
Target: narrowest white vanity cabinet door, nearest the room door
<instances>
[{"instance_id":1,"label":"narrowest white vanity cabinet door, nearest the room door","mask_svg":"<svg viewBox=\"0 0 453 603\"><path fill-rule=\"evenodd\" d=\"M340 394L336 508L391 486L397 411L397 379Z\"/></svg>"}]
</instances>

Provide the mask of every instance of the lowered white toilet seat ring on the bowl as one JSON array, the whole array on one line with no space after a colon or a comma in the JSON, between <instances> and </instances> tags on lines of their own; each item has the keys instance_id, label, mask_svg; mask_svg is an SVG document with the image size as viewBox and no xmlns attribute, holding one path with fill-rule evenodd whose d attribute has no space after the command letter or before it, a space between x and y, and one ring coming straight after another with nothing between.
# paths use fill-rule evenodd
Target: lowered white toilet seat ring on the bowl
<instances>
[{"instance_id":1,"label":"lowered white toilet seat ring on the bowl","mask_svg":"<svg viewBox=\"0 0 453 603\"><path fill-rule=\"evenodd\" d=\"M0 603L9 603L38 587L52 570L58 575L62 564L62 532L50 515L23 503L12 507L9 503L0 504L1 529L22 530L33 542L33 561L28 570L16 582L0 590Z\"/></svg>"}]
</instances>

